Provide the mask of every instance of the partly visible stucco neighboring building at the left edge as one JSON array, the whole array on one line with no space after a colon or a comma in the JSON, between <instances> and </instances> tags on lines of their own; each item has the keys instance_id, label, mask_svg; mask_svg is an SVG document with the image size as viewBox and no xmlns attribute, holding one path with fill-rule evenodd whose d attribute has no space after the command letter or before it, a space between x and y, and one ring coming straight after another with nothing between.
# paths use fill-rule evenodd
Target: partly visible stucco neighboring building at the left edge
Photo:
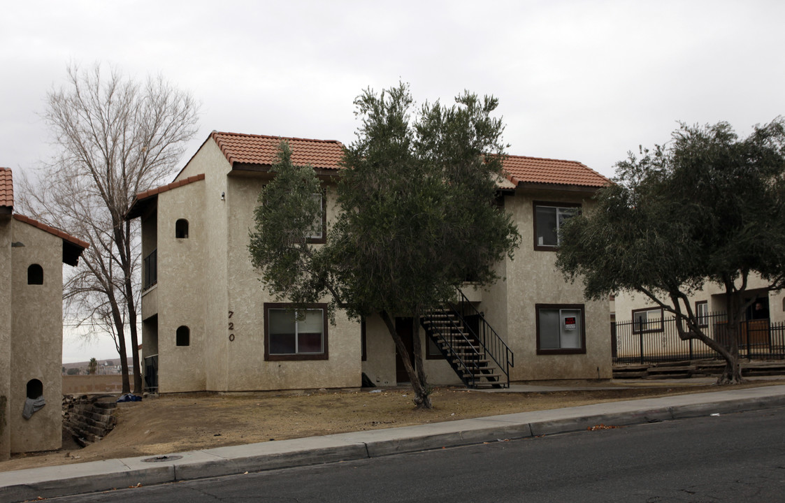
<instances>
[{"instance_id":1,"label":"partly visible stucco neighboring building at the left edge","mask_svg":"<svg viewBox=\"0 0 785 503\"><path fill-rule=\"evenodd\" d=\"M0 168L0 459L60 448L63 264L87 246L13 213L11 170ZM24 418L41 396L46 406Z\"/></svg>"}]
</instances>

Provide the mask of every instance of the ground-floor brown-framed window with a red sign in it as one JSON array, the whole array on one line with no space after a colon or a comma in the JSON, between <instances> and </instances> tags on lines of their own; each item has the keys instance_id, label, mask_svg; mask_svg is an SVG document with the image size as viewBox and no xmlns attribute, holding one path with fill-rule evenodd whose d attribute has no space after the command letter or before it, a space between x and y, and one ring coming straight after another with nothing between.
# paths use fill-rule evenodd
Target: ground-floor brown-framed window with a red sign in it
<instances>
[{"instance_id":1,"label":"ground-floor brown-framed window with a red sign in it","mask_svg":"<svg viewBox=\"0 0 785 503\"><path fill-rule=\"evenodd\" d=\"M583 304L535 304L537 354L586 353L586 320Z\"/></svg>"}]
</instances>

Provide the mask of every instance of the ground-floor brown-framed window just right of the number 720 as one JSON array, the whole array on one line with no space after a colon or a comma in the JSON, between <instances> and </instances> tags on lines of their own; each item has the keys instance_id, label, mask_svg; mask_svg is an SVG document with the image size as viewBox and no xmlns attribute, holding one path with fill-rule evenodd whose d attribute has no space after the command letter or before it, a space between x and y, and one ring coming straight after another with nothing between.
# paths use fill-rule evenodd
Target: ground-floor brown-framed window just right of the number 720
<instances>
[{"instance_id":1,"label":"ground-floor brown-framed window just right of the number 720","mask_svg":"<svg viewBox=\"0 0 785 503\"><path fill-rule=\"evenodd\" d=\"M265 359L327 359L327 304L265 304Z\"/></svg>"}]
</instances>

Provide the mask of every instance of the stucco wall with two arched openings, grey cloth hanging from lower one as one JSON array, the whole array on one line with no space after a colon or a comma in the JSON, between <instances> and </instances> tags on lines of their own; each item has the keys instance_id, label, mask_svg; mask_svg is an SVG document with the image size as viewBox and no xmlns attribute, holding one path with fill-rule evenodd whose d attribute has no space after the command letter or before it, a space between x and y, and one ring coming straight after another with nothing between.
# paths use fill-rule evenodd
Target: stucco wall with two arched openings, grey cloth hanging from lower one
<instances>
[{"instance_id":1,"label":"stucco wall with two arched openings, grey cloth hanging from lower one","mask_svg":"<svg viewBox=\"0 0 785 503\"><path fill-rule=\"evenodd\" d=\"M10 434L12 452L60 447L63 348L63 242L30 224L12 221L12 324L10 363ZM27 284L27 267L43 268L43 285ZM29 420L22 417L27 381L43 384L46 406Z\"/></svg>"}]
</instances>

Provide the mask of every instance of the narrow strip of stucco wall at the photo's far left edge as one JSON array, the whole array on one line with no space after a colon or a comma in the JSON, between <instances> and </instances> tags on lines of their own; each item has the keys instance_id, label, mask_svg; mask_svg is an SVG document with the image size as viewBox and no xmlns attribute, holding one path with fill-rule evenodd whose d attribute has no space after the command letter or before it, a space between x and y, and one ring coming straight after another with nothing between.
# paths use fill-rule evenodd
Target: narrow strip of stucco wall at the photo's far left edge
<instances>
[{"instance_id":1,"label":"narrow strip of stucco wall at the photo's far left edge","mask_svg":"<svg viewBox=\"0 0 785 503\"><path fill-rule=\"evenodd\" d=\"M11 454L11 216L0 215L0 460Z\"/></svg>"}]
</instances>

